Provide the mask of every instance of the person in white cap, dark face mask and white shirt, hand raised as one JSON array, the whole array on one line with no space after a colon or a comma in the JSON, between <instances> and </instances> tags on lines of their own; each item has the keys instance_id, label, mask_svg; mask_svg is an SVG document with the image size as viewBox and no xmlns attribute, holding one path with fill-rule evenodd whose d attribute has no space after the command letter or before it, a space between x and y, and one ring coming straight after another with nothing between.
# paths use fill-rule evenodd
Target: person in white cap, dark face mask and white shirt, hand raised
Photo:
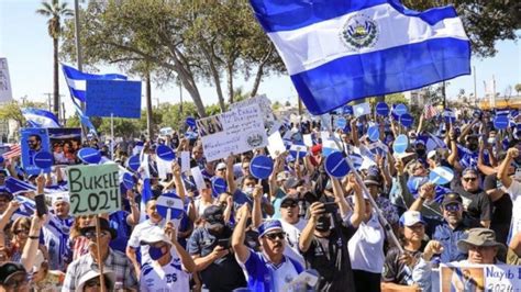
<instances>
[{"instance_id":1,"label":"person in white cap, dark face mask and white shirt, hand raised","mask_svg":"<svg viewBox=\"0 0 521 292\"><path fill-rule=\"evenodd\" d=\"M190 291L190 273L196 270L196 263L177 242L171 222L165 231L154 229L141 244L148 246L152 261L143 265L140 291Z\"/></svg>"}]
</instances>

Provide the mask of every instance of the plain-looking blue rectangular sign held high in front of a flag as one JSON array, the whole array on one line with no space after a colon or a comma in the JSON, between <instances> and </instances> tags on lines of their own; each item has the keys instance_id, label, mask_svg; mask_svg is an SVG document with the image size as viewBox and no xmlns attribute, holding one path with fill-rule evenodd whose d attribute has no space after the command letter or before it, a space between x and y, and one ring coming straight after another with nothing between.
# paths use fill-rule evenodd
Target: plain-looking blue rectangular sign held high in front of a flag
<instances>
[{"instance_id":1,"label":"plain-looking blue rectangular sign held high in front of a flag","mask_svg":"<svg viewBox=\"0 0 521 292\"><path fill-rule=\"evenodd\" d=\"M86 114L141 117L141 81L87 80Z\"/></svg>"}]
</instances>

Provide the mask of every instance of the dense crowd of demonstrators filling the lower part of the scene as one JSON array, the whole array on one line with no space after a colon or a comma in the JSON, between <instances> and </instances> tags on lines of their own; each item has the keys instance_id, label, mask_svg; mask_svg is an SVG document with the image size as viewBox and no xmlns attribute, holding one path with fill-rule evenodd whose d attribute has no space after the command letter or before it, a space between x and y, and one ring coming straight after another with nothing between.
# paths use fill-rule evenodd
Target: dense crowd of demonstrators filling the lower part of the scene
<instances>
[{"instance_id":1,"label":"dense crowd of demonstrators filling the lower part of the scene","mask_svg":"<svg viewBox=\"0 0 521 292\"><path fill-rule=\"evenodd\" d=\"M512 126L499 130L494 112L422 114L414 131L391 117L344 115L347 125L331 133L337 150L365 160L344 178L325 169L321 135L334 122L323 120L280 127L289 145L311 135L313 146L298 157L263 148L208 161L201 139L184 131L123 139L113 153L92 138L84 147L134 179L121 186L123 207L99 216L71 216L64 168L26 176L11 157L0 164L0 291L435 291L442 263L521 265L521 115L510 115ZM375 125L388 147L369 158ZM400 134L409 146L398 155ZM203 186L177 160L159 178L160 144L189 151ZM146 157L135 172L132 155ZM273 158L267 179L252 173L258 155ZM454 175L445 184L430 176L440 167ZM224 192L215 191L218 178ZM9 179L36 191L14 191ZM184 212L166 221L157 200L171 192ZM38 194L48 212L21 212L21 198ZM467 282L457 291L470 291Z\"/></svg>"}]
</instances>

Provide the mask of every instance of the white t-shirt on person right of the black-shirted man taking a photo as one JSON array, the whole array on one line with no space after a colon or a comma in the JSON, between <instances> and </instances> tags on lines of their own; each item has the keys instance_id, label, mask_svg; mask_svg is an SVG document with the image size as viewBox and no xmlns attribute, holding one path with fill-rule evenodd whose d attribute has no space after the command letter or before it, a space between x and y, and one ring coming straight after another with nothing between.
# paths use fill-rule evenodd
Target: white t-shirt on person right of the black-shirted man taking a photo
<instances>
[{"instance_id":1,"label":"white t-shirt on person right of the black-shirted man taking a photo","mask_svg":"<svg viewBox=\"0 0 521 292\"><path fill-rule=\"evenodd\" d=\"M373 213L367 223L361 223L347 244L352 269L381 273L385 261L384 240L384 228L378 222L378 215Z\"/></svg>"}]
</instances>

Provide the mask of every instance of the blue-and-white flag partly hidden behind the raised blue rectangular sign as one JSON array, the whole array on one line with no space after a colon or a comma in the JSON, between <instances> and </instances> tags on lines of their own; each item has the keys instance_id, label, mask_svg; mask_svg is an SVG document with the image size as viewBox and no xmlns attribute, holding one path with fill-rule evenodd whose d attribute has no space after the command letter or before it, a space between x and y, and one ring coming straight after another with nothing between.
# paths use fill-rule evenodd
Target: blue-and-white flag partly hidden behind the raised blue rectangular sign
<instances>
[{"instance_id":1,"label":"blue-and-white flag partly hidden behind the raised blue rectangular sign","mask_svg":"<svg viewBox=\"0 0 521 292\"><path fill-rule=\"evenodd\" d=\"M126 80L126 76L124 75L86 74L65 64L62 64L62 69L64 70L65 80L67 80L67 86L69 87L70 96L82 102L85 102L85 96L87 93L87 80Z\"/></svg>"}]
</instances>

